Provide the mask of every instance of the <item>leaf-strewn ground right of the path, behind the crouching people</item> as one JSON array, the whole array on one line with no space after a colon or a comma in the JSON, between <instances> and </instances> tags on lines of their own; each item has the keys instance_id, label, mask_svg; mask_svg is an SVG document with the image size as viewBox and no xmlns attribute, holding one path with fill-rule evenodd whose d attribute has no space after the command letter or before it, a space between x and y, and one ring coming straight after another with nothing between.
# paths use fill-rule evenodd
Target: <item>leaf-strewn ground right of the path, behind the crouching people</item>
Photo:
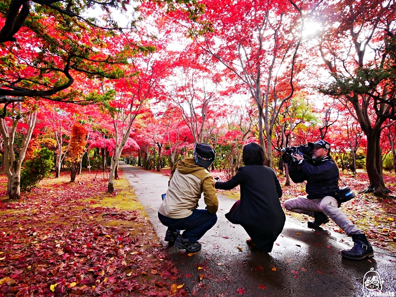
<instances>
[{"instance_id":1,"label":"leaf-strewn ground right of the path, behind the crouching people","mask_svg":"<svg viewBox=\"0 0 396 297\"><path fill-rule=\"evenodd\" d=\"M170 170L162 170L162 174L170 176ZM213 176L220 176L224 181L224 171L211 171ZM362 229L372 245L385 248L396 253L396 176L394 173L384 173L384 181L388 189L393 193L389 198L378 198L372 194L357 194L365 190L369 185L369 179L366 172L358 172L353 175L347 170L340 172L341 179L354 191L356 198L343 203L341 210L347 214L351 221ZM306 195L304 183L293 183L290 186L284 186L285 177L278 176L282 185L283 196L281 202L294 198L300 195ZM231 190L217 190L219 193L226 195L232 199L240 199L239 187ZM295 212L288 212L286 214L297 219L309 221L311 217ZM332 220L323 226L335 232L342 232Z\"/></svg>"}]
</instances>

